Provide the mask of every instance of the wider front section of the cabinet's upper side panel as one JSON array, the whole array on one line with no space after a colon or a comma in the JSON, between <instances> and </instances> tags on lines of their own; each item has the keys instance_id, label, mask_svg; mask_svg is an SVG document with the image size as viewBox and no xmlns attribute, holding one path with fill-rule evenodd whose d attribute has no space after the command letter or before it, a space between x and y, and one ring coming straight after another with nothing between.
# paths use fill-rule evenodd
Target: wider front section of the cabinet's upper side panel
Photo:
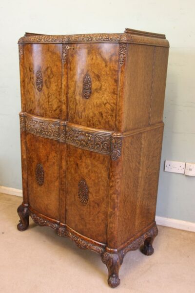
<instances>
[{"instance_id":1,"label":"wider front section of the cabinet's upper side panel","mask_svg":"<svg viewBox=\"0 0 195 293\"><path fill-rule=\"evenodd\" d=\"M149 125L154 47L128 45L123 131Z\"/></svg>"}]
</instances>

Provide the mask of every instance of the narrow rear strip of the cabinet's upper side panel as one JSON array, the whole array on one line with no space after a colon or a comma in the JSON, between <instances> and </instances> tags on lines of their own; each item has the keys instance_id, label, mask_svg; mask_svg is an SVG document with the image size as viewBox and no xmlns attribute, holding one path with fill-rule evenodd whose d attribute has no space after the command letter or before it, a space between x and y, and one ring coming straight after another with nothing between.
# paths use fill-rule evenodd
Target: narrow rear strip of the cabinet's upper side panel
<instances>
[{"instance_id":1,"label":"narrow rear strip of the cabinet's upper side panel","mask_svg":"<svg viewBox=\"0 0 195 293\"><path fill-rule=\"evenodd\" d=\"M162 121L169 48L155 48L150 124Z\"/></svg>"}]
</instances>

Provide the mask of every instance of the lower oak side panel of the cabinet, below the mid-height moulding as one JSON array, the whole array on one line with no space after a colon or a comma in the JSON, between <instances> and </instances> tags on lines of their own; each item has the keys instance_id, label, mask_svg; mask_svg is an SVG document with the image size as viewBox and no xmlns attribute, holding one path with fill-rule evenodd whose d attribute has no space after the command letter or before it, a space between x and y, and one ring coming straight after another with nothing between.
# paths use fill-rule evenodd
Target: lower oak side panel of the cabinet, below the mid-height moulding
<instances>
[{"instance_id":1,"label":"lower oak side panel of the cabinet, below the mid-height moulding","mask_svg":"<svg viewBox=\"0 0 195 293\"><path fill-rule=\"evenodd\" d=\"M118 246L155 221L163 126L124 138Z\"/></svg>"}]
</instances>

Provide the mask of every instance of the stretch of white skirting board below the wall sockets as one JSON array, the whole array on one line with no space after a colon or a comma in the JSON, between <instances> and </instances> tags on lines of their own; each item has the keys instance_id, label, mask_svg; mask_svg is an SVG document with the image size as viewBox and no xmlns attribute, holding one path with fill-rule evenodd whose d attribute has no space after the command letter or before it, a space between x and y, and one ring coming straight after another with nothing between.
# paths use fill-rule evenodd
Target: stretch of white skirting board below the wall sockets
<instances>
[{"instance_id":1,"label":"stretch of white skirting board below the wall sockets","mask_svg":"<svg viewBox=\"0 0 195 293\"><path fill-rule=\"evenodd\" d=\"M195 223L192 222L156 216L156 224L179 230L195 232Z\"/></svg>"}]
</instances>

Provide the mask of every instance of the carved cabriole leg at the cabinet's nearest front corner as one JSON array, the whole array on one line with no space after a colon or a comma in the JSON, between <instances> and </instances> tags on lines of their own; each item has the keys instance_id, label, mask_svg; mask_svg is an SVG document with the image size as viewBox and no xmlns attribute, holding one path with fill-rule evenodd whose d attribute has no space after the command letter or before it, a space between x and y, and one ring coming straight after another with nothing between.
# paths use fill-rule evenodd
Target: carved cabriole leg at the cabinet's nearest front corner
<instances>
[{"instance_id":1,"label":"carved cabriole leg at the cabinet's nearest front corner","mask_svg":"<svg viewBox=\"0 0 195 293\"><path fill-rule=\"evenodd\" d=\"M115 288L120 284L120 279L118 277L118 271L123 262L122 255L118 253L104 252L101 255L102 262L108 268L108 285L111 288Z\"/></svg>"}]
</instances>

